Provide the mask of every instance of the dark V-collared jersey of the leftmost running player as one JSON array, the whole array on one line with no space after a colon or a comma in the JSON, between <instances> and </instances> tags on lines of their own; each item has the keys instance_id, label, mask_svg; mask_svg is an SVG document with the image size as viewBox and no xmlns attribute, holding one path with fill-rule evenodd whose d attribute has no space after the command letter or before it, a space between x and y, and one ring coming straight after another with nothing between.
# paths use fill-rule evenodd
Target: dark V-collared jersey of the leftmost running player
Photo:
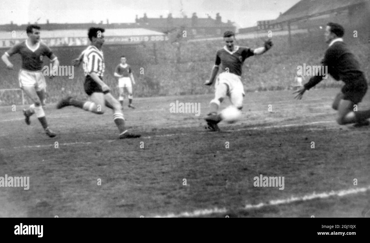
<instances>
[{"instance_id":1,"label":"dark V-collared jersey of the leftmost running player","mask_svg":"<svg viewBox=\"0 0 370 243\"><path fill-rule=\"evenodd\" d=\"M38 42L35 49L32 50L28 47L26 41L23 41L13 45L5 54L8 57L11 57L16 53L19 53L22 57L22 69L28 71L42 70L43 57L47 56L51 60L53 56L53 52L50 48L42 42ZM51 61L54 61L55 59L57 58L54 56Z\"/></svg>"}]
</instances>

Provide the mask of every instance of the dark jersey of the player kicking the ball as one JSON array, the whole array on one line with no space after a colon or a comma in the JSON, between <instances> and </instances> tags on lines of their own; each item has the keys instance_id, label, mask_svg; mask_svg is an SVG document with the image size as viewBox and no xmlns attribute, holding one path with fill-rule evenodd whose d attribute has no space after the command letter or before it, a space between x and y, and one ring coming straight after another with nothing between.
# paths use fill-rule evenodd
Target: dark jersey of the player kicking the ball
<instances>
[{"instance_id":1,"label":"dark jersey of the player kicking the ball","mask_svg":"<svg viewBox=\"0 0 370 243\"><path fill-rule=\"evenodd\" d=\"M221 64L221 72L230 72L241 76L244 60L252 55L254 55L253 49L248 47L235 46L234 51L231 52L224 46L216 53L215 65Z\"/></svg>"}]
</instances>

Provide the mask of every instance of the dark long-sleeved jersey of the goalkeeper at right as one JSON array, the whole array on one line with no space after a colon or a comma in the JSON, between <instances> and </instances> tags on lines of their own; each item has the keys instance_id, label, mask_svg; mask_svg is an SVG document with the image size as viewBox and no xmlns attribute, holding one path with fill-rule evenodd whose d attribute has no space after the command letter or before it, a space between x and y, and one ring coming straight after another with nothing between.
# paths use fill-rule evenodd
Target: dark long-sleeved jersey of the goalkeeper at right
<instances>
[{"instance_id":1,"label":"dark long-sleeved jersey of the goalkeeper at right","mask_svg":"<svg viewBox=\"0 0 370 243\"><path fill-rule=\"evenodd\" d=\"M336 41L326 50L322 65L327 66L327 72L335 80L342 80L347 85L358 80L362 82L364 79L359 62L343 41ZM317 75L310 78L310 81L305 84L306 90L318 84L323 77L323 75Z\"/></svg>"}]
</instances>

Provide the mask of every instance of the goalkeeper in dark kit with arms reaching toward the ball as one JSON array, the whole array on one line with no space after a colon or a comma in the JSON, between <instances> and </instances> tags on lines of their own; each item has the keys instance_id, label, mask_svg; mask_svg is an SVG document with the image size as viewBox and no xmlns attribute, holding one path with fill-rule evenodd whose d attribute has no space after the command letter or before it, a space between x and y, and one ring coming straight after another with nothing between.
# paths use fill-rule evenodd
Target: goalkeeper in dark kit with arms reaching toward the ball
<instances>
[{"instance_id":1,"label":"goalkeeper in dark kit with arms reaching toward the ball","mask_svg":"<svg viewBox=\"0 0 370 243\"><path fill-rule=\"evenodd\" d=\"M343 42L344 28L340 24L328 23L324 39L329 48L325 52L322 66L327 66L327 72L332 77L344 82L344 86L334 99L333 109L338 111L339 125L356 123L355 126L370 125L370 110L354 111L355 105L361 102L367 91L365 75L360 70L360 64ZM302 99L306 90L322 81L324 75L316 74L303 87L294 92L295 98Z\"/></svg>"}]
</instances>

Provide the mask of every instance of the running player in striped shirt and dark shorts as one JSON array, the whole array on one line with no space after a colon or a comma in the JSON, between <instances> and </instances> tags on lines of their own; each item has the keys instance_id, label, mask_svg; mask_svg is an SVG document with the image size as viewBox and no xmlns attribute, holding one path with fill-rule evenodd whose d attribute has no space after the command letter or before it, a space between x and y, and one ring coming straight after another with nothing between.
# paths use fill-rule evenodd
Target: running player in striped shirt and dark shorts
<instances>
[{"instance_id":1,"label":"running player in striped shirt and dark shorts","mask_svg":"<svg viewBox=\"0 0 370 243\"><path fill-rule=\"evenodd\" d=\"M91 27L88 31L88 37L91 41L79 58L73 60L73 64L78 65L81 58L85 73L84 89L90 97L90 101L79 101L72 97L62 99L57 104L57 109L72 105L85 111L96 114L104 113L104 105L113 110L113 120L118 127L119 137L122 138L139 138L140 135L132 134L125 129L125 119L121 112L120 102L110 93L110 88L103 81L105 69L104 55L101 47L104 43L104 28Z\"/></svg>"}]
</instances>

